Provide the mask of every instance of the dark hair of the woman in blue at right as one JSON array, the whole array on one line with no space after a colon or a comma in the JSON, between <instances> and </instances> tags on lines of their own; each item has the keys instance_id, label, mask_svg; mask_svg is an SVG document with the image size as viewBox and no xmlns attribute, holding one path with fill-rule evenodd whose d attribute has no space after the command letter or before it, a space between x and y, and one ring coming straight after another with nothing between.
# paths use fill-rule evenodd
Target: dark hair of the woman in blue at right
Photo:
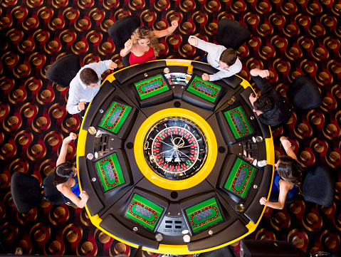
<instances>
[{"instance_id":1,"label":"dark hair of the woman in blue at right","mask_svg":"<svg viewBox=\"0 0 341 257\"><path fill-rule=\"evenodd\" d=\"M278 157L277 172L284 181L294 184L296 187L302 183L302 167L295 159L287 155Z\"/></svg>"}]
</instances>

